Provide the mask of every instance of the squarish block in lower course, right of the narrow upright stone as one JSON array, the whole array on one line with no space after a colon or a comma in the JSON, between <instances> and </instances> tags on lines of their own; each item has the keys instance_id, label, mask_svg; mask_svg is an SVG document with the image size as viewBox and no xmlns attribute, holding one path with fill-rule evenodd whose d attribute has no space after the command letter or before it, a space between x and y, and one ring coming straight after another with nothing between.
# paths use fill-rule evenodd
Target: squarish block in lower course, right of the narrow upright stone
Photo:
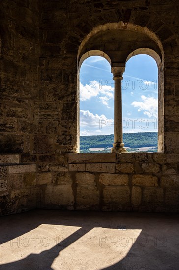
<instances>
[{"instance_id":1,"label":"squarish block in lower course, right of the narrow upright stone","mask_svg":"<svg viewBox=\"0 0 179 270\"><path fill-rule=\"evenodd\" d=\"M144 204L157 204L164 201L164 192L162 188L146 187L143 190Z\"/></svg>"}]
</instances>

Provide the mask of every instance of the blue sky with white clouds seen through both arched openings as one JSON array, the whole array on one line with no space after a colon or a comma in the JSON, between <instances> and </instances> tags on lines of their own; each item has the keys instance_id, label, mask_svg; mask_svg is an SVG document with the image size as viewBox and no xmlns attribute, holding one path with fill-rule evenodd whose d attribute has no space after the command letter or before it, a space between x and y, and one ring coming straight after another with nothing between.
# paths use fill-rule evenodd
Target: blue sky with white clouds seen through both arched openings
<instances>
[{"instance_id":1,"label":"blue sky with white clouds seen through both arched openings","mask_svg":"<svg viewBox=\"0 0 179 270\"><path fill-rule=\"evenodd\" d=\"M131 57L122 80L123 133L157 131L158 68L145 54ZM114 133L114 81L110 64L87 58L80 69L80 135Z\"/></svg>"}]
</instances>

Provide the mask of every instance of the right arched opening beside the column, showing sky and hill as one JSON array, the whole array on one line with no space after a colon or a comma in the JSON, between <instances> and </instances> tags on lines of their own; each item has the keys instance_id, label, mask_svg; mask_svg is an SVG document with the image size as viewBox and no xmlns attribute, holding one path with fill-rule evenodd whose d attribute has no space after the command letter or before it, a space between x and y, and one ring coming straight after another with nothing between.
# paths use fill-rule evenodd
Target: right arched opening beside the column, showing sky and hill
<instances>
[{"instance_id":1,"label":"right arched opening beside the column, showing sky and hill","mask_svg":"<svg viewBox=\"0 0 179 270\"><path fill-rule=\"evenodd\" d=\"M123 142L128 152L157 152L158 67L138 54L126 62L122 80Z\"/></svg>"}]
</instances>

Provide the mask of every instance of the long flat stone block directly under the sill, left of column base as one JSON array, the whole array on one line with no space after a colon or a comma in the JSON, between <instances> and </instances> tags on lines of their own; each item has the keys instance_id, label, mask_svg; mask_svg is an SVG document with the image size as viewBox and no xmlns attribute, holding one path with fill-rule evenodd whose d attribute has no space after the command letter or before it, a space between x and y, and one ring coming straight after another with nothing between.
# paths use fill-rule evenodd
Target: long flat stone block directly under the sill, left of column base
<instances>
[{"instance_id":1,"label":"long flat stone block directly under the sill, left of column base","mask_svg":"<svg viewBox=\"0 0 179 270\"><path fill-rule=\"evenodd\" d=\"M115 172L115 163L87 163L86 171L90 172Z\"/></svg>"}]
</instances>

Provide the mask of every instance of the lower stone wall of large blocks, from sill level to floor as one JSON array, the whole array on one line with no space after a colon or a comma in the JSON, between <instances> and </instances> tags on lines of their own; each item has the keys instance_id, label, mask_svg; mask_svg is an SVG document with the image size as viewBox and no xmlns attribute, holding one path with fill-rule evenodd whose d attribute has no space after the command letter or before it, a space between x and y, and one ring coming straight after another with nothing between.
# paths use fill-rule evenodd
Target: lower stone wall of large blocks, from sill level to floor
<instances>
[{"instance_id":1,"label":"lower stone wall of large blocks, from sill level to floor","mask_svg":"<svg viewBox=\"0 0 179 270\"><path fill-rule=\"evenodd\" d=\"M0 156L1 215L35 208L179 211L179 155L66 154L63 161L59 156L41 159L36 166L19 163L19 155Z\"/></svg>"}]
</instances>

